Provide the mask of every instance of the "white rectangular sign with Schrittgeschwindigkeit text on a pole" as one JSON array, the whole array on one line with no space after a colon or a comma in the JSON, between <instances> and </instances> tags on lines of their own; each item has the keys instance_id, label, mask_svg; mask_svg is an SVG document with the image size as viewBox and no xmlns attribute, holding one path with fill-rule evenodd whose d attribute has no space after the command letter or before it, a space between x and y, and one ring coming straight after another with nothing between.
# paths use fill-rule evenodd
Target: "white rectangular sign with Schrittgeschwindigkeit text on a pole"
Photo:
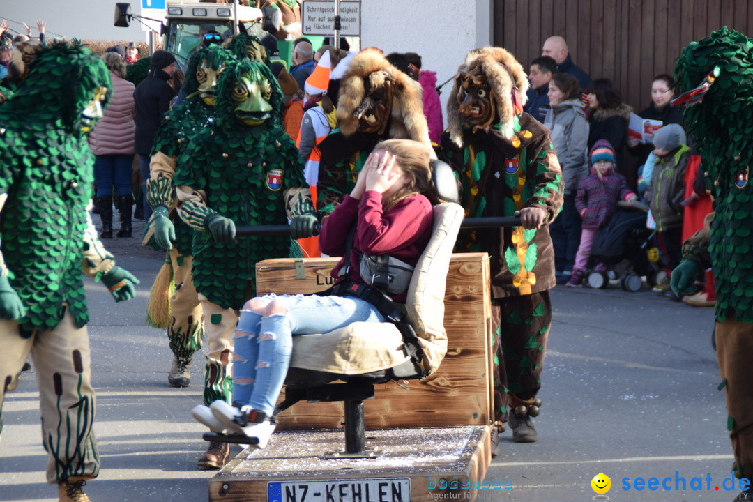
<instances>
[{"instance_id":1,"label":"white rectangular sign with Schrittgeschwindigkeit text on a pole","mask_svg":"<svg viewBox=\"0 0 753 502\"><path fill-rule=\"evenodd\" d=\"M300 6L303 35L333 35L334 8L337 0L306 0ZM142 0L145 2L145 0ZM361 36L361 2L340 2L340 36Z\"/></svg>"}]
</instances>

